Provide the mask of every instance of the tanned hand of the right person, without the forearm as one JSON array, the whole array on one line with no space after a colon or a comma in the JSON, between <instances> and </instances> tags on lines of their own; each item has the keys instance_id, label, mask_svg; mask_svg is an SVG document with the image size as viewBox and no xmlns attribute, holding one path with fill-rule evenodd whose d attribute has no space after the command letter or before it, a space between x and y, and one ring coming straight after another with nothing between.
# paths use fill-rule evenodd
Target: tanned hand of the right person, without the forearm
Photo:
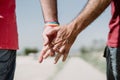
<instances>
[{"instance_id":1,"label":"tanned hand of the right person, without the forearm","mask_svg":"<svg viewBox=\"0 0 120 80\"><path fill-rule=\"evenodd\" d=\"M57 52L55 57L55 64L58 62L61 56L63 56L62 61L65 61L71 46L73 45L77 34L71 28L71 25L60 26L57 32L56 38L53 41L53 50Z\"/></svg>"}]
</instances>

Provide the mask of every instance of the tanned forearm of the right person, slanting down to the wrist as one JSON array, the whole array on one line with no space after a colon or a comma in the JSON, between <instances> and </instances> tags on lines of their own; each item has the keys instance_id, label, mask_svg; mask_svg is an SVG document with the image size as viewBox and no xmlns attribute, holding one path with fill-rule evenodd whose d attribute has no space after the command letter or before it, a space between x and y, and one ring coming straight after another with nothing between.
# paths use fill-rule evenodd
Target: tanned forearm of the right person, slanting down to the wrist
<instances>
[{"instance_id":1,"label":"tanned forearm of the right person, slanting down to the wrist","mask_svg":"<svg viewBox=\"0 0 120 80\"><path fill-rule=\"evenodd\" d=\"M80 15L71 22L72 29L79 34L108 7L110 2L111 0L89 0Z\"/></svg>"}]
</instances>

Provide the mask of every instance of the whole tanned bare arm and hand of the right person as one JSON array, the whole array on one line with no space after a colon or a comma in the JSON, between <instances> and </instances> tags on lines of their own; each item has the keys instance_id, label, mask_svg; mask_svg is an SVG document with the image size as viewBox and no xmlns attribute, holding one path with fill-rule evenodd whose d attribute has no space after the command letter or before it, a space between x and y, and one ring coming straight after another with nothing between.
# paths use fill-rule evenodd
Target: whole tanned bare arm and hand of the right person
<instances>
[{"instance_id":1,"label":"whole tanned bare arm and hand of the right person","mask_svg":"<svg viewBox=\"0 0 120 80\"><path fill-rule=\"evenodd\" d=\"M57 29L52 29L53 31L54 29L56 30L55 33L52 33L52 35L56 34L56 36L51 42L48 41L48 43L52 45L50 49L52 49L54 52L57 52L54 63L57 63L62 56L63 61L66 60L69 50L80 32L83 31L89 24L91 24L108 7L110 3L111 0L88 0L85 8L72 22L67 25L58 26ZM51 11L54 11L54 9L51 9ZM45 51L48 51L48 49L45 49Z\"/></svg>"}]
</instances>

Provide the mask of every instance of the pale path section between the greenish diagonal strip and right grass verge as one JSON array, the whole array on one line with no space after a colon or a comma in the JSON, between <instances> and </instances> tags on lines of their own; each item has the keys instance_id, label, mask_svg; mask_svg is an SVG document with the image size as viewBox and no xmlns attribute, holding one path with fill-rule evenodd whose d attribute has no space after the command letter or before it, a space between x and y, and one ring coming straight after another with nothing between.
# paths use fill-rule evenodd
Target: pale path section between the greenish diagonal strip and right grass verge
<instances>
[{"instance_id":1,"label":"pale path section between the greenish diagonal strip and right grass verge","mask_svg":"<svg viewBox=\"0 0 120 80\"><path fill-rule=\"evenodd\" d=\"M106 77L80 58L71 58L54 80L106 80Z\"/></svg>"}]
</instances>

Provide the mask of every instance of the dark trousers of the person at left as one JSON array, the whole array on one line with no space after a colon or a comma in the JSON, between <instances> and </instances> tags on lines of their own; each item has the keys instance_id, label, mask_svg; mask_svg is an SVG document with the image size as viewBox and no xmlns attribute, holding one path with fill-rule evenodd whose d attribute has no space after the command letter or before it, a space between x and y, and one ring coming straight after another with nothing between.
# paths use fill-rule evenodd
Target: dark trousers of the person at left
<instances>
[{"instance_id":1,"label":"dark trousers of the person at left","mask_svg":"<svg viewBox=\"0 0 120 80\"><path fill-rule=\"evenodd\" d=\"M16 50L0 50L0 80L13 80Z\"/></svg>"}]
</instances>

